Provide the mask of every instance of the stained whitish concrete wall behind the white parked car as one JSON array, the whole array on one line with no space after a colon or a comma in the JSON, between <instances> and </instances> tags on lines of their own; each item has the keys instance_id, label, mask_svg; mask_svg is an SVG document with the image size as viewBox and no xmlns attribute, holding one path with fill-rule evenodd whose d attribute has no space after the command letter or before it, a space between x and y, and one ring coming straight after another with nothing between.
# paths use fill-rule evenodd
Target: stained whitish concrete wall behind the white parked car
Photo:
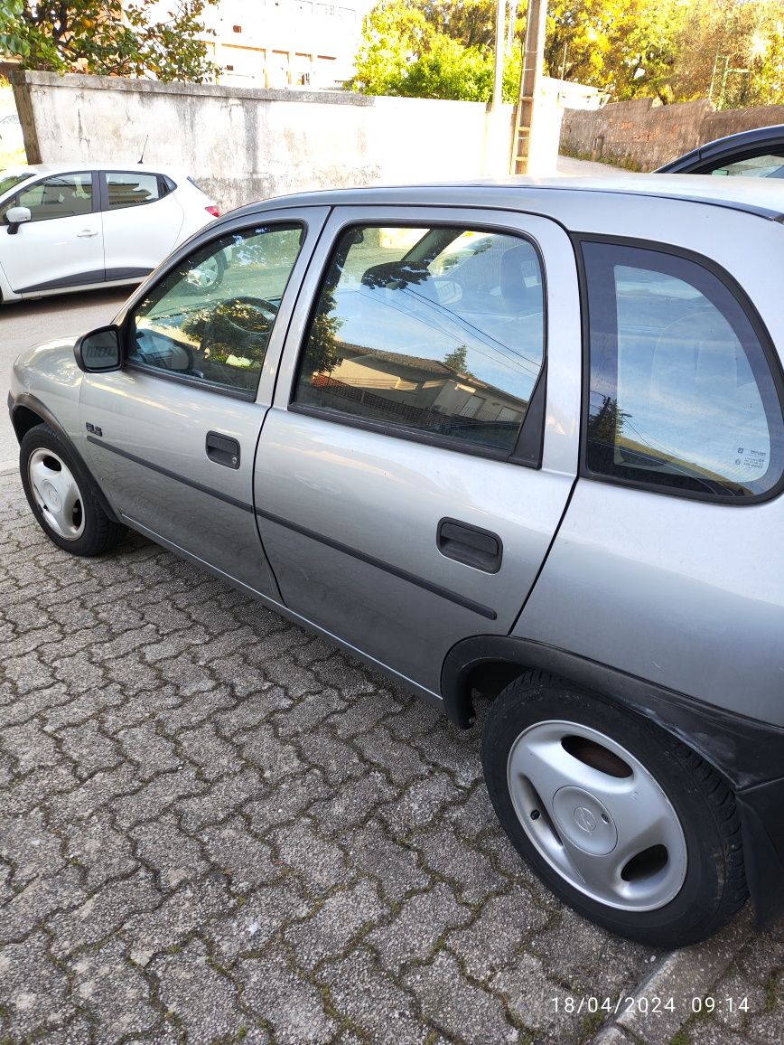
<instances>
[{"instance_id":1,"label":"stained whitish concrete wall behind the white parked car","mask_svg":"<svg viewBox=\"0 0 784 1045\"><path fill-rule=\"evenodd\" d=\"M305 189L508 172L512 106L493 121L471 101L42 72L13 84L29 162L135 163L144 149L224 210Z\"/></svg>"}]
</instances>

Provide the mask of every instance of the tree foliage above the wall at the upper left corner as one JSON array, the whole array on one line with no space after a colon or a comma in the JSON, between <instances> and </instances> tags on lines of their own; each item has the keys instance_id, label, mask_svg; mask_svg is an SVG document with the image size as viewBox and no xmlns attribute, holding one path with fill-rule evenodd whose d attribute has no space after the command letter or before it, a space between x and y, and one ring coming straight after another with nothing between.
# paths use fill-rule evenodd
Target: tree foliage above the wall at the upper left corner
<instances>
[{"instance_id":1,"label":"tree foliage above the wall at the upper left corner","mask_svg":"<svg viewBox=\"0 0 784 1045\"><path fill-rule=\"evenodd\" d=\"M0 51L25 69L203 83L218 71L207 57L205 2L172 0L0 0Z\"/></svg>"}]
</instances>

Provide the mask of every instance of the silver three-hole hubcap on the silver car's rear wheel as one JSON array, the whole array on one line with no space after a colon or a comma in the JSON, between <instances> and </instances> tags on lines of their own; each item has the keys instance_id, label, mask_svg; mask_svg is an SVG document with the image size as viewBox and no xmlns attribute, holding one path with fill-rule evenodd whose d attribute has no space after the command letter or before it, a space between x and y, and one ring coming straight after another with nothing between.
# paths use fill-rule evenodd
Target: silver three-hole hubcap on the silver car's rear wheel
<instances>
[{"instance_id":1,"label":"silver three-hole hubcap on the silver car's rear wheel","mask_svg":"<svg viewBox=\"0 0 784 1045\"><path fill-rule=\"evenodd\" d=\"M576 722L539 722L515 741L506 775L528 838L575 889L629 911L678 896L687 864L681 821L620 744Z\"/></svg>"}]
</instances>

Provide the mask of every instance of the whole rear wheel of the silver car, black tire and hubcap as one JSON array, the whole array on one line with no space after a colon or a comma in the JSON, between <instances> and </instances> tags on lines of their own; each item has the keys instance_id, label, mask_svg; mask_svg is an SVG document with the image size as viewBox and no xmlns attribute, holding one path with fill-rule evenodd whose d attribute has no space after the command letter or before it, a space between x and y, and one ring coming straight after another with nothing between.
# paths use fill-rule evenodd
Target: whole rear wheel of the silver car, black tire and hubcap
<instances>
[{"instance_id":1,"label":"whole rear wheel of the silver car, black tire and hubcap","mask_svg":"<svg viewBox=\"0 0 784 1045\"><path fill-rule=\"evenodd\" d=\"M637 715L531 672L491 705L482 758L517 850L593 922L680 947L714 933L745 901L732 792Z\"/></svg>"}]
</instances>

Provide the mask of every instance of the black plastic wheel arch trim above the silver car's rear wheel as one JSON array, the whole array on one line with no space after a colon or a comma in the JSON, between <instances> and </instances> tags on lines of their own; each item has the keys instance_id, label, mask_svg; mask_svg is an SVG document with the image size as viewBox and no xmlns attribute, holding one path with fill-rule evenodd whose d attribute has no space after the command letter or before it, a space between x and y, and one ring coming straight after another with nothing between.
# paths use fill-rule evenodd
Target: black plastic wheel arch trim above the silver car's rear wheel
<instances>
[{"instance_id":1,"label":"black plastic wheel arch trim above the silver car's rear wheel","mask_svg":"<svg viewBox=\"0 0 784 1045\"><path fill-rule=\"evenodd\" d=\"M741 820L749 891L757 922L784 913L784 728L706 704L544 643L510 635L477 635L457 643L442 669L449 718L473 722L471 678L482 666L540 669L655 722L693 748L726 779Z\"/></svg>"}]
</instances>

